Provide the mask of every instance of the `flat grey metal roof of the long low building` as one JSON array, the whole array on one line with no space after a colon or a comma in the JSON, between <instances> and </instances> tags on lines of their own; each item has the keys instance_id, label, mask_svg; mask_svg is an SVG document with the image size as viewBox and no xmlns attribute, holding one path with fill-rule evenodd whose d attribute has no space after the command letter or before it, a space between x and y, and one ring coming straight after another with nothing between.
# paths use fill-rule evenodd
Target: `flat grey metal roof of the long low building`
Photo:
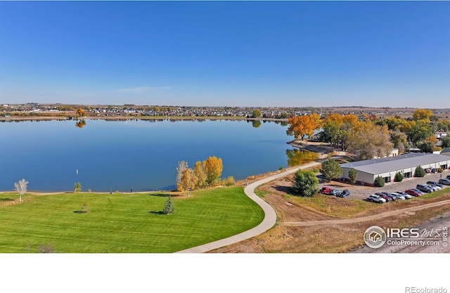
<instances>
[{"instance_id":1,"label":"flat grey metal roof of the long low building","mask_svg":"<svg viewBox=\"0 0 450 293\"><path fill-rule=\"evenodd\" d=\"M425 164L450 161L449 156L439 154L409 153L381 159L366 159L359 162L341 164L342 168L354 168L368 174L383 174L390 171L408 169Z\"/></svg>"}]
</instances>

